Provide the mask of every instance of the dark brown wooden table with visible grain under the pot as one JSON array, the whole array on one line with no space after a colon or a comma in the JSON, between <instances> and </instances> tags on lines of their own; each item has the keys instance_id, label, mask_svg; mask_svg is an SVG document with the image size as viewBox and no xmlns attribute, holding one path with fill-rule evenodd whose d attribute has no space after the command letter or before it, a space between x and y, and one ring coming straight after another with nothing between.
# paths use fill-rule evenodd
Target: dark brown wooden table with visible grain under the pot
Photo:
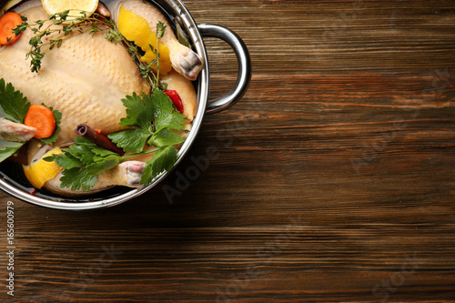
<instances>
[{"instance_id":1,"label":"dark brown wooden table with visible grain under the pot","mask_svg":"<svg viewBox=\"0 0 455 303\"><path fill-rule=\"evenodd\" d=\"M180 196L66 212L1 193L15 301L453 302L455 2L186 3L245 40L247 95L161 184ZM206 43L217 98L236 59Z\"/></svg>"}]
</instances>

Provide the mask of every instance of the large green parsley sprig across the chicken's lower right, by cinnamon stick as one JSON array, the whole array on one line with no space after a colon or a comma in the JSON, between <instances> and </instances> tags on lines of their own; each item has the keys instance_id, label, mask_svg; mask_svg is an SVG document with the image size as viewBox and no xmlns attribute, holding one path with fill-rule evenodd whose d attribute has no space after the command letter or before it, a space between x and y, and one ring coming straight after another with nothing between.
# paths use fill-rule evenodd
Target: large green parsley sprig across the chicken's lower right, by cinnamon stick
<instances>
[{"instance_id":1,"label":"large green parsley sprig across the chicken's lower right, by cinnamon stick","mask_svg":"<svg viewBox=\"0 0 455 303\"><path fill-rule=\"evenodd\" d=\"M63 154L45 157L46 161L56 161L63 167L61 187L71 190L89 190L96 185L100 173L116 167L128 157L155 153L146 163L140 184L150 184L165 170L170 170L177 161L175 146L183 143L175 131L183 129L185 116L174 110L172 101L159 89L152 95L126 96L122 99L126 106L126 117L121 126L132 126L108 137L127 152L125 156L96 146L82 136L76 137L75 144L64 150ZM146 149L146 146L154 146Z\"/></svg>"}]
</instances>

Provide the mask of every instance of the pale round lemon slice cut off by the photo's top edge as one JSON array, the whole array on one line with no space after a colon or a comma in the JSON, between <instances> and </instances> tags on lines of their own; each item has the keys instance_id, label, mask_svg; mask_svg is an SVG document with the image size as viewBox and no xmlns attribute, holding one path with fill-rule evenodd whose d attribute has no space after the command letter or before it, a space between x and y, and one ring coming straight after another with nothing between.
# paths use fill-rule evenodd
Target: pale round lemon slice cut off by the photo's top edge
<instances>
[{"instance_id":1,"label":"pale round lemon slice cut off by the photo's top edge","mask_svg":"<svg viewBox=\"0 0 455 303\"><path fill-rule=\"evenodd\" d=\"M92 15L98 7L98 0L41 0L41 4L49 15L69 10L69 15L79 17L81 11L85 11L87 16Z\"/></svg>"}]
</instances>

